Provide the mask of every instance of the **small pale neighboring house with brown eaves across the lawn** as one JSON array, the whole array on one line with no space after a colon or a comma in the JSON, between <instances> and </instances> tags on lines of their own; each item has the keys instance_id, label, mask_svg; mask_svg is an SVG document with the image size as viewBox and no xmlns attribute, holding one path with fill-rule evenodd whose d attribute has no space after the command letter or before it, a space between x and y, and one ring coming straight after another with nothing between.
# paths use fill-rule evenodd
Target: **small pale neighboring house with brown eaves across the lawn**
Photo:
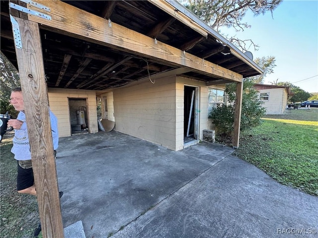
<instances>
[{"instance_id":1,"label":"small pale neighboring house with brown eaves across the lawn","mask_svg":"<svg viewBox=\"0 0 318 238\"><path fill-rule=\"evenodd\" d=\"M266 114L284 113L288 98L292 96L290 87L267 84L255 84L254 87L259 91L259 100L264 103Z\"/></svg>"}]
</instances>

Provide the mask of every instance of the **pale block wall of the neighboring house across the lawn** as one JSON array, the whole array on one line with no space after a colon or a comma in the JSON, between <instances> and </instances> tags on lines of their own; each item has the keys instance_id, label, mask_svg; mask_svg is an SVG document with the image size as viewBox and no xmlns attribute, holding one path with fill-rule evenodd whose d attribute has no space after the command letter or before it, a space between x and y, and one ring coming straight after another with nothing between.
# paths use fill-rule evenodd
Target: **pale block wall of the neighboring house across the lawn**
<instances>
[{"instance_id":1,"label":"pale block wall of the neighboring house across the lawn","mask_svg":"<svg viewBox=\"0 0 318 238\"><path fill-rule=\"evenodd\" d=\"M280 115L284 113L287 104L285 88L261 89L259 93L269 93L268 100L262 100L266 114Z\"/></svg>"}]
</instances>

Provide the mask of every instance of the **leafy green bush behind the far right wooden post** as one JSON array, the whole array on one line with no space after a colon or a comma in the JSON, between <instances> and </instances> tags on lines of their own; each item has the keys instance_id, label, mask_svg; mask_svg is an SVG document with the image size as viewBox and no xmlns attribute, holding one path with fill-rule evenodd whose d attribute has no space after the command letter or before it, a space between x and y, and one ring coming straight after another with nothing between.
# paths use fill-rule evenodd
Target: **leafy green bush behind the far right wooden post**
<instances>
[{"instance_id":1,"label":"leafy green bush behind the far right wooden post","mask_svg":"<svg viewBox=\"0 0 318 238\"><path fill-rule=\"evenodd\" d=\"M262 107L259 100L258 91L253 87L251 79L243 80L243 97L240 129L244 130L261 123L261 117L266 110ZM211 119L215 124L218 133L230 134L234 130L234 111L236 99L236 83L227 84L225 89L228 96L228 105L218 105L210 113Z\"/></svg>"}]
</instances>

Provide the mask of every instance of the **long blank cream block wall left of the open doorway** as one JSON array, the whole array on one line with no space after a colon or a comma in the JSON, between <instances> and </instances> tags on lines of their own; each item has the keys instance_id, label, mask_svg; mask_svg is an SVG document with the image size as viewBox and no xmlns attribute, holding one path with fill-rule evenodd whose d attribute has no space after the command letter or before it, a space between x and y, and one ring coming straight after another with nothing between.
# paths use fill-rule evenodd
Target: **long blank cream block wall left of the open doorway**
<instances>
[{"instance_id":1,"label":"long blank cream block wall left of the open doorway","mask_svg":"<svg viewBox=\"0 0 318 238\"><path fill-rule=\"evenodd\" d=\"M114 89L115 129L176 150L176 126L180 125L176 123L175 88L175 77L170 77Z\"/></svg>"}]
</instances>

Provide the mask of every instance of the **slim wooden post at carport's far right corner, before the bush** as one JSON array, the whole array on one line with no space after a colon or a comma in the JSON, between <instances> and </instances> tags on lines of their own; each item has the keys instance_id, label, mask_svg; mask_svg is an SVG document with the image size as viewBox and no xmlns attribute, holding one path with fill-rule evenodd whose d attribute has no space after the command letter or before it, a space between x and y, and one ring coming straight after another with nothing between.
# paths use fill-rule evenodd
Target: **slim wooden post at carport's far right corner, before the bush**
<instances>
[{"instance_id":1,"label":"slim wooden post at carport's far right corner, before the bush","mask_svg":"<svg viewBox=\"0 0 318 238\"><path fill-rule=\"evenodd\" d=\"M240 129L240 114L242 111L242 97L243 97L243 81L237 83L237 93L235 99L234 112L234 132L233 132L233 148L239 148L239 129Z\"/></svg>"}]
</instances>

